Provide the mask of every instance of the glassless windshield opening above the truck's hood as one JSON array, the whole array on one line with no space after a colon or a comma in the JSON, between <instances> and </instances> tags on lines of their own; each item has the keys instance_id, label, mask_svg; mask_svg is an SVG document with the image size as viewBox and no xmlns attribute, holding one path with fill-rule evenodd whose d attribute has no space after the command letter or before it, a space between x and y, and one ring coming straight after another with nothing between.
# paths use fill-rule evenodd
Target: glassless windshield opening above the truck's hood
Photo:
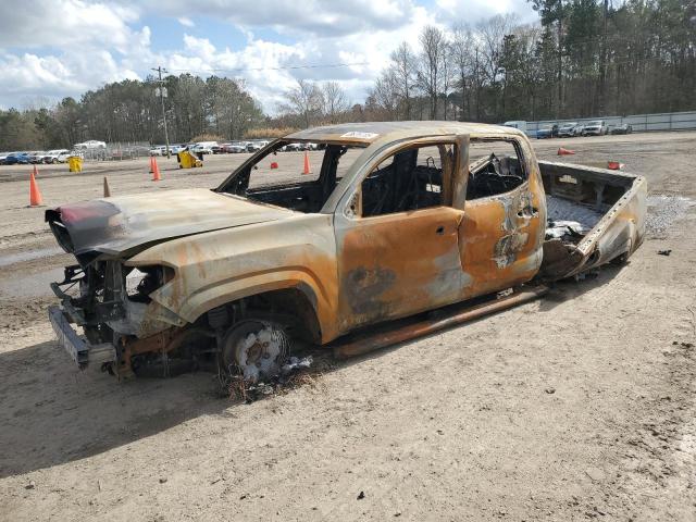
<instances>
[{"instance_id":1,"label":"glassless windshield opening above the truck's hood","mask_svg":"<svg viewBox=\"0 0 696 522\"><path fill-rule=\"evenodd\" d=\"M322 141L276 141L217 191L297 212L319 212L362 149Z\"/></svg>"}]
</instances>

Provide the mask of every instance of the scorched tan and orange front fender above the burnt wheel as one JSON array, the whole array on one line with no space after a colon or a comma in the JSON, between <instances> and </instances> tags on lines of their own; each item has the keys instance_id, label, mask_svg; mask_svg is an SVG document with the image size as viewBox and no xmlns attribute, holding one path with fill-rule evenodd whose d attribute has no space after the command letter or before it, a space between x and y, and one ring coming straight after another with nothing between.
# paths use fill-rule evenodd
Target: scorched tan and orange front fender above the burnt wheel
<instances>
[{"instance_id":1,"label":"scorched tan and orange front fender above the burnt wheel","mask_svg":"<svg viewBox=\"0 0 696 522\"><path fill-rule=\"evenodd\" d=\"M331 215L295 214L271 223L166 241L128 265L163 264L174 277L152 301L192 323L207 311L245 297L297 288L314 309L322 343L335 338L337 264Z\"/></svg>"}]
</instances>

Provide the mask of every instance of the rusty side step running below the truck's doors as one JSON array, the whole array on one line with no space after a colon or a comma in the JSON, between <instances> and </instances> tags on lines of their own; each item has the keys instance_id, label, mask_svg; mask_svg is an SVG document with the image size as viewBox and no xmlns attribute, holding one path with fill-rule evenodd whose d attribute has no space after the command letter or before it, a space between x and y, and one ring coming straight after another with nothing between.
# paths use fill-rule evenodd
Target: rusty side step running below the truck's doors
<instances>
[{"instance_id":1,"label":"rusty side step running below the truck's doors","mask_svg":"<svg viewBox=\"0 0 696 522\"><path fill-rule=\"evenodd\" d=\"M542 297L547 291L547 286L535 286L533 288L513 291L509 296L492 299L481 304L469 306L465 308L459 307L455 309L448 307L446 309L436 310L431 312L430 315L434 315L432 319L412 322L410 324L396 327L395 330L376 333L374 333L373 330L373 333L365 332L363 334L358 334L357 336L350 336L346 341L339 341L338 345L334 346L334 357L336 359L348 359L350 357L369 353L371 351L378 350L380 348L403 343L405 340L421 337L423 335L428 335L439 330L465 323L467 321L473 321L474 319L499 312L501 310L522 304L523 302L533 301Z\"/></svg>"}]
</instances>

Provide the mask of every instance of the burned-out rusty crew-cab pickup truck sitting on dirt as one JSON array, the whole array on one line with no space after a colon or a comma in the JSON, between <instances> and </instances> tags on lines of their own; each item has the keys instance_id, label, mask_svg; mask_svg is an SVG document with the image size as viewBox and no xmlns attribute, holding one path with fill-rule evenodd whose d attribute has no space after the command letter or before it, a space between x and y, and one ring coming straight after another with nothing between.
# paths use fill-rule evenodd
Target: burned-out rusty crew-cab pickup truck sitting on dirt
<instances>
[{"instance_id":1,"label":"burned-out rusty crew-cab pickup truck sitting on dirt","mask_svg":"<svg viewBox=\"0 0 696 522\"><path fill-rule=\"evenodd\" d=\"M309 152L277 153L288 144ZM47 211L77 259L52 285L61 306L49 314L80 366L125 376L176 360L254 381L296 344L356 353L621 263L643 241L645 213L644 178L539 162L513 128L311 128L212 190ZM455 303L449 322L433 319Z\"/></svg>"}]
</instances>

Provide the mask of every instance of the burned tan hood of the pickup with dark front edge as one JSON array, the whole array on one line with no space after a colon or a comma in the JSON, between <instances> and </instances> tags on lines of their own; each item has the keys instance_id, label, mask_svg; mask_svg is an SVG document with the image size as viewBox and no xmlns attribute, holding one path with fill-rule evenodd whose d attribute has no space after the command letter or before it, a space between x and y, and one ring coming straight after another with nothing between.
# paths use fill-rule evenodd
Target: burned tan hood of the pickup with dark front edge
<instances>
[{"instance_id":1,"label":"burned tan hood of the pickup with dark front edge","mask_svg":"<svg viewBox=\"0 0 696 522\"><path fill-rule=\"evenodd\" d=\"M279 220L291 213L195 188L65 204L46 211L46 221L67 252L120 256L175 237Z\"/></svg>"}]
</instances>

